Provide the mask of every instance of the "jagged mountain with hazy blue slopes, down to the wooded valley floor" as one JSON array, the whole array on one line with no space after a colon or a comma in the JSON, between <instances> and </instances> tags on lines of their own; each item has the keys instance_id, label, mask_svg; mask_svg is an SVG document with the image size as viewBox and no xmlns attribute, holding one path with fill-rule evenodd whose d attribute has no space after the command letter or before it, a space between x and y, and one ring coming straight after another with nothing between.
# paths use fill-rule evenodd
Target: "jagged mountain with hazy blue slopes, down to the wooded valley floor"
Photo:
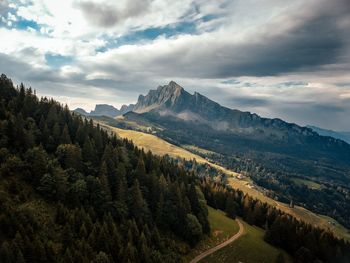
<instances>
[{"instance_id":1,"label":"jagged mountain with hazy blue slopes, down to the wooded valley floor","mask_svg":"<svg viewBox=\"0 0 350 263\"><path fill-rule=\"evenodd\" d=\"M140 95L124 121L151 127L176 144L243 155L288 172L350 181L344 171L350 169L350 145L344 141L280 119L223 107L173 81Z\"/></svg>"}]
</instances>

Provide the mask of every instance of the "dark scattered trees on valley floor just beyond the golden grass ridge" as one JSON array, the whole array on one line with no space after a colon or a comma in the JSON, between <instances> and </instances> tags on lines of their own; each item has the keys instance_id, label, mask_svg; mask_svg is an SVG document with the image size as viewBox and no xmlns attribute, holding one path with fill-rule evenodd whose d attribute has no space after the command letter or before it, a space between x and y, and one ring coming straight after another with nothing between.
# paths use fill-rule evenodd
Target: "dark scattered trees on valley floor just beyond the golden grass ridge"
<instances>
[{"instance_id":1,"label":"dark scattered trees on valley floor just beyond the golden grass ridge","mask_svg":"<svg viewBox=\"0 0 350 263\"><path fill-rule=\"evenodd\" d=\"M278 198L279 201L289 203L291 200L295 204L305 207L319 214L328 215L335 218L338 222L347 228L350 228L350 189L345 183L339 184L335 181L327 181L320 178L319 182L323 185L319 189L312 189L306 185L300 185L293 182L293 178L310 180L300 171L290 171L277 157L271 157L268 162L260 164L254 159L245 156L232 156L217 153L197 154L209 158L212 162L221 164L228 169L249 176L257 185L268 189L266 193L271 198ZM269 154L266 153L266 156ZM295 166L297 167L297 166ZM312 170L305 167L310 174ZM309 175L310 175L309 174ZM311 179L314 180L314 179Z\"/></svg>"}]
</instances>

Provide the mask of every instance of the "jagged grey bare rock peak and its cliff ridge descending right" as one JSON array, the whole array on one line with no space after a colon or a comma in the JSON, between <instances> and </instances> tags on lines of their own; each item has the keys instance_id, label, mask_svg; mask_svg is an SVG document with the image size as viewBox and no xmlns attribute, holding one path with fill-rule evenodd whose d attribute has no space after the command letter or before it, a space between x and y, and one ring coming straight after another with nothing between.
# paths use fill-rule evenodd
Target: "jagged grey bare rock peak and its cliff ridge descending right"
<instances>
[{"instance_id":1,"label":"jagged grey bare rock peak and its cliff ridge descending right","mask_svg":"<svg viewBox=\"0 0 350 263\"><path fill-rule=\"evenodd\" d=\"M221 106L198 92L193 95L188 93L174 81L150 90L146 96L140 95L133 111L139 114L158 114L160 117L171 116L205 124L215 130L255 134L260 137L285 138L291 134L314 134L309 128L280 119L262 118L257 114Z\"/></svg>"}]
</instances>

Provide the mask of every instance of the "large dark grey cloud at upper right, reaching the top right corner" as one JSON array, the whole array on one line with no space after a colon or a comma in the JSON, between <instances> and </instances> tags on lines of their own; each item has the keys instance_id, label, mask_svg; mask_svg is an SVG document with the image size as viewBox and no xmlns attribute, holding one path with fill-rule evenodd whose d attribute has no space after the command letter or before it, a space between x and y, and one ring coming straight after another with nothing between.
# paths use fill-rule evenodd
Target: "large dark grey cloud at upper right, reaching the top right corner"
<instances>
[{"instance_id":1,"label":"large dark grey cloud at upper right, reaching the top right corner","mask_svg":"<svg viewBox=\"0 0 350 263\"><path fill-rule=\"evenodd\" d=\"M317 6L319 4L320 6ZM296 26L291 30L260 36L261 40L243 45L226 45L230 50L228 61L216 71L218 77L271 76L292 71L304 71L321 65L336 63L342 59L350 40L349 28L341 21L349 18L348 0L315 1L310 10L300 10L304 16L291 15ZM278 31L282 24L274 23L271 32ZM290 20L286 21L290 23ZM231 61L229 61L232 58Z\"/></svg>"}]
</instances>

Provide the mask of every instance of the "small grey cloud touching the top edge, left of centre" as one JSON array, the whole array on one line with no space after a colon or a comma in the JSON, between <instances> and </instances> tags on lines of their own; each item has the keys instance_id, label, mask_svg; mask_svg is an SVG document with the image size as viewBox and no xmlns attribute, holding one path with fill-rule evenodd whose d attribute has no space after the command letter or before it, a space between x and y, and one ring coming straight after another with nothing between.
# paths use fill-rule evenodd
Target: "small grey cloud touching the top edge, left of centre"
<instances>
[{"instance_id":1,"label":"small grey cloud touching the top edge, left of centre","mask_svg":"<svg viewBox=\"0 0 350 263\"><path fill-rule=\"evenodd\" d=\"M113 27L129 17L138 16L147 11L149 1L128 0L122 9L107 3L84 1L78 4L84 16L91 24L99 27Z\"/></svg>"}]
</instances>

